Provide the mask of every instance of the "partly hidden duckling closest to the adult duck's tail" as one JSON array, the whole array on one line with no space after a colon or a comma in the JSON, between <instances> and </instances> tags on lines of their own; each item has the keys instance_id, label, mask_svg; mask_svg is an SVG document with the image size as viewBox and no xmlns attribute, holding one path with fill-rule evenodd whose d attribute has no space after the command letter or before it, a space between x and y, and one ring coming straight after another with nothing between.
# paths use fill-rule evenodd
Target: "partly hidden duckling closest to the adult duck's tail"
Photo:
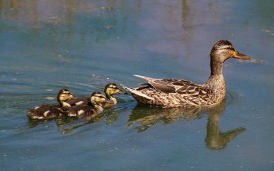
<instances>
[{"instance_id":1,"label":"partly hidden duckling closest to the adult duck's tail","mask_svg":"<svg viewBox=\"0 0 274 171\"><path fill-rule=\"evenodd\" d=\"M105 103L105 107L113 107L117 104L116 98L114 98L114 94L127 94L126 92L123 92L116 83L108 83L105 85L105 96L110 99L110 103ZM71 106L77 106L77 105L88 105L90 103L89 97L80 97L75 98L67 101Z\"/></svg>"}]
</instances>

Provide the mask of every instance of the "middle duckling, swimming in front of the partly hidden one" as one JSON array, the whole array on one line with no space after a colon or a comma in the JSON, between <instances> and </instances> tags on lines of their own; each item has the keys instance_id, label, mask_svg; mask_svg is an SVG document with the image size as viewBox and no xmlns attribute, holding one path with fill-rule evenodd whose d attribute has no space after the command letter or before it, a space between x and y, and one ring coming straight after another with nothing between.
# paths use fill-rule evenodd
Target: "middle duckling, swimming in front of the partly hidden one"
<instances>
[{"instance_id":1,"label":"middle duckling, swimming in front of the partly hidden one","mask_svg":"<svg viewBox=\"0 0 274 171\"><path fill-rule=\"evenodd\" d=\"M90 95L90 102L84 105L76 105L74 107L62 107L67 116L96 116L103 111L105 103L108 103L105 95L101 92L93 92Z\"/></svg>"}]
</instances>

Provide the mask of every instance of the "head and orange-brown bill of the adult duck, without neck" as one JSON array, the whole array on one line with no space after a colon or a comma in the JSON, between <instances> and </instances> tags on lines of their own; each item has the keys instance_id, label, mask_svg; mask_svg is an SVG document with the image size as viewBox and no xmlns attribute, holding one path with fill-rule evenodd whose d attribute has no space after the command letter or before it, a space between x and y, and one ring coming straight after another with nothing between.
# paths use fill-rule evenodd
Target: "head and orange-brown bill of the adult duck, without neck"
<instances>
[{"instance_id":1,"label":"head and orange-brown bill of the adult duck, without neck","mask_svg":"<svg viewBox=\"0 0 274 171\"><path fill-rule=\"evenodd\" d=\"M229 58L238 58L242 60L249 60L250 57L242 53L238 53L234 46L228 40L219 40L214 44L210 53L211 60L218 62L225 62Z\"/></svg>"}]
</instances>

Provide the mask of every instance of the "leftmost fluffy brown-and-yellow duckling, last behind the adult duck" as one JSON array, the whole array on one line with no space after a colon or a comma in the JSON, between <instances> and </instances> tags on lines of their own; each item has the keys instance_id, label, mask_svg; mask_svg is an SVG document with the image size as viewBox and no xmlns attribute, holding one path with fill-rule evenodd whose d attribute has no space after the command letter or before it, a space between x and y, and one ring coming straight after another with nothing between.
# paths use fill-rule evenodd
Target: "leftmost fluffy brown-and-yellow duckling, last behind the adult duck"
<instances>
[{"instance_id":1,"label":"leftmost fluffy brown-and-yellow duckling, last behind the adult duck","mask_svg":"<svg viewBox=\"0 0 274 171\"><path fill-rule=\"evenodd\" d=\"M32 119L49 119L62 115L61 107L71 107L69 103L66 103L69 99L73 98L73 94L66 89L62 89L58 92L57 99L60 105L40 105L29 109L29 117Z\"/></svg>"}]
</instances>

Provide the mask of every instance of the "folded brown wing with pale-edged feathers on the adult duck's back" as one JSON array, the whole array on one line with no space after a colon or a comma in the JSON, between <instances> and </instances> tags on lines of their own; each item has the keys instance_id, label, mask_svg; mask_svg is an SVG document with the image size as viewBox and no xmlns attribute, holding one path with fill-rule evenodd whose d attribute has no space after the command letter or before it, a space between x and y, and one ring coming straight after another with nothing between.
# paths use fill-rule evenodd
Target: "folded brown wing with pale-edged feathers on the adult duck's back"
<instances>
[{"instance_id":1,"label":"folded brown wing with pale-edged feathers on the adult duck's back","mask_svg":"<svg viewBox=\"0 0 274 171\"><path fill-rule=\"evenodd\" d=\"M199 94L201 86L184 79L153 79L150 77L134 75L147 80L148 84L164 93Z\"/></svg>"}]
</instances>

